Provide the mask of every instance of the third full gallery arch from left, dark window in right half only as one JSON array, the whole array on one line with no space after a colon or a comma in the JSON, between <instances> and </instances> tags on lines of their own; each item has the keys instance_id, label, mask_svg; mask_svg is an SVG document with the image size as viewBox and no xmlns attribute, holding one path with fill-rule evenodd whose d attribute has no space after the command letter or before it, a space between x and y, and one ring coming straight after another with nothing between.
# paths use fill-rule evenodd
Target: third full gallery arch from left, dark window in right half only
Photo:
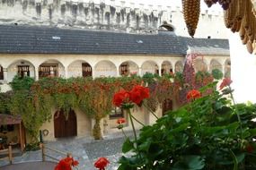
<instances>
[{"instance_id":1,"label":"third full gallery arch from left, dark window in right half only","mask_svg":"<svg viewBox=\"0 0 256 170\"><path fill-rule=\"evenodd\" d=\"M67 66L67 77L93 76L92 65L84 60L75 60Z\"/></svg>"}]
</instances>

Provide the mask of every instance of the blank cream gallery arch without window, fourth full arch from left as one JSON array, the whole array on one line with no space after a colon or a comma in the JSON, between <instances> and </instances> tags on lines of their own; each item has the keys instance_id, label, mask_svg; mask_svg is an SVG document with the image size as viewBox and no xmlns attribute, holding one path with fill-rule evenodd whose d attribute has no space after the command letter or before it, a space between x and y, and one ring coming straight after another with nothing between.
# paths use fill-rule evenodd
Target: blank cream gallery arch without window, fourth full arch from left
<instances>
[{"instance_id":1,"label":"blank cream gallery arch without window, fourth full arch from left","mask_svg":"<svg viewBox=\"0 0 256 170\"><path fill-rule=\"evenodd\" d=\"M117 73L117 66L109 60L102 60L94 66L95 77L114 77Z\"/></svg>"}]
</instances>

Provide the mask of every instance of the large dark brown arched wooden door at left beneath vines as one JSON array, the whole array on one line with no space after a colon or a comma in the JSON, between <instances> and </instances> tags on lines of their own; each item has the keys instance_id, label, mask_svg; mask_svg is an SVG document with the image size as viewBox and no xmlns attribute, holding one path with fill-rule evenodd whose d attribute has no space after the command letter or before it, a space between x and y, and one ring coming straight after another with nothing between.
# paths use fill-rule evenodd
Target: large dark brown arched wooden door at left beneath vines
<instances>
[{"instance_id":1,"label":"large dark brown arched wooden door at left beneath vines","mask_svg":"<svg viewBox=\"0 0 256 170\"><path fill-rule=\"evenodd\" d=\"M57 111L54 115L54 137L64 138L77 135L77 123L74 110L68 113L68 118L63 111Z\"/></svg>"}]
</instances>

